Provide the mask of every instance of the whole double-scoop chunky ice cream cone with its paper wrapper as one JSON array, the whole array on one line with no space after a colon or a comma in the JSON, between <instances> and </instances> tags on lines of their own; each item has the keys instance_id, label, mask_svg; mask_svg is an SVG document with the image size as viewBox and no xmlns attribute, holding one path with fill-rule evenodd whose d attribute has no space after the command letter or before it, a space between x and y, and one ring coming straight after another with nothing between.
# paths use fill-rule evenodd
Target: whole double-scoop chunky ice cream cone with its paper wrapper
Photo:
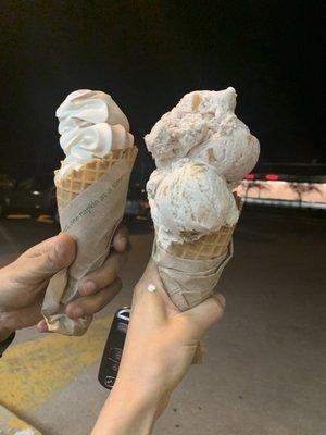
<instances>
[{"instance_id":1,"label":"whole double-scoop chunky ice cream cone with its paper wrapper","mask_svg":"<svg viewBox=\"0 0 326 435\"><path fill-rule=\"evenodd\" d=\"M153 258L180 310L213 294L233 254L241 209L233 188L260 150L235 107L234 88L187 94L145 138L158 166L147 185Z\"/></svg>"}]
</instances>

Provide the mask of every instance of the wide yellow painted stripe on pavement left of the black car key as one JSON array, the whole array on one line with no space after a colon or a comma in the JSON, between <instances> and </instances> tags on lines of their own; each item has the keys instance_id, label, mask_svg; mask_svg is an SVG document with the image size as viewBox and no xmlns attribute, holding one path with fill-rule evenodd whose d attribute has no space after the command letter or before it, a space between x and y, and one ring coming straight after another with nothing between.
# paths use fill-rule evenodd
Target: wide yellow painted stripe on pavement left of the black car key
<instances>
[{"instance_id":1,"label":"wide yellow painted stripe on pavement left of the black car key","mask_svg":"<svg viewBox=\"0 0 326 435\"><path fill-rule=\"evenodd\" d=\"M14 412L35 408L101 357L112 316L83 337L49 334L9 348L0 360L0 402Z\"/></svg>"}]
</instances>

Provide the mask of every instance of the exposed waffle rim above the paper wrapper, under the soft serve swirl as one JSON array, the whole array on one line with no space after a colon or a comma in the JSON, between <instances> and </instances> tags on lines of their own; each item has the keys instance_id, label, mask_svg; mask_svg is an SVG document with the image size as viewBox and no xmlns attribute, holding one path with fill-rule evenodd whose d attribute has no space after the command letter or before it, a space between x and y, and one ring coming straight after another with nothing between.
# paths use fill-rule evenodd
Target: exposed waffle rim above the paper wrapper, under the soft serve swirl
<instances>
[{"instance_id":1,"label":"exposed waffle rim above the paper wrapper, under the soft serve swirl","mask_svg":"<svg viewBox=\"0 0 326 435\"><path fill-rule=\"evenodd\" d=\"M102 159L93 159L84 164L78 170L72 171L67 176L55 181L58 208L66 207L80 191L85 190L91 184L97 182L102 175L121 159L126 159L133 167L136 147L125 150L114 150Z\"/></svg>"}]
</instances>

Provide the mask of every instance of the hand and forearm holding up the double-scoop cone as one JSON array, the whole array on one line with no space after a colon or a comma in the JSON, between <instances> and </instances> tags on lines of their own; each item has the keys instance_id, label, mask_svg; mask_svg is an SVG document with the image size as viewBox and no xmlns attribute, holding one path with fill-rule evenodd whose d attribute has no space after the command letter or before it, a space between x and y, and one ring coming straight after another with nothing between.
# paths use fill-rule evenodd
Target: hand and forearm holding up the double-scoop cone
<instances>
[{"instance_id":1,"label":"hand and forearm holding up the double-scoop cone","mask_svg":"<svg viewBox=\"0 0 326 435\"><path fill-rule=\"evenodd\" d=\"M147 290L154 284L156 291ZM134 294L115 385L91 435L148 435L191 365L202 335L223 315L217 295L180 313L151 260Z\"/></svg>"}]
</instances>

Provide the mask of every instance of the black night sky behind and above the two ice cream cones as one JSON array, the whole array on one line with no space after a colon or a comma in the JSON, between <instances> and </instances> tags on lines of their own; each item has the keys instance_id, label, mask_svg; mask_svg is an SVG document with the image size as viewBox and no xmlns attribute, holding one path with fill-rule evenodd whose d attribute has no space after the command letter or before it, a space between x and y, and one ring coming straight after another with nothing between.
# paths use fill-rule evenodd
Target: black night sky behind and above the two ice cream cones
<instances>
[{"instance_id":1,"label":"black night sky behind and above the two ice cream cones","mask_svg":"<svg viewBox=\"0 0 326 435\"><path fill-rule=\"evenodd\" d=\"M1 1L0 172L49 173L57 107L79 88L113 96L142 137L195 89L238 92L266 163L325 162L322 2Z\"/></svg>"}]
</instances>

